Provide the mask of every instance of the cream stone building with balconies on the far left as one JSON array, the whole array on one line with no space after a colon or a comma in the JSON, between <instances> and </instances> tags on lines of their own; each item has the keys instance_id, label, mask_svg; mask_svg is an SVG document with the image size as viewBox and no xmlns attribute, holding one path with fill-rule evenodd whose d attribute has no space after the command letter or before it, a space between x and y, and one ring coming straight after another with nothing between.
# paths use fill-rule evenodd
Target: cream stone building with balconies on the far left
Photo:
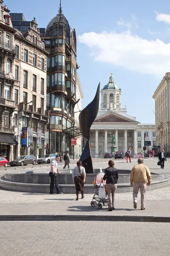
<instances>
[{"instance_id":1,"label":"cream stone building with balconies on the far left","mask_svg":"<svg viewBox=\"0 0 170 256\"><path fill-rule=\"evenodd\" d=\"M47 52L35 18L20 31L14 28L13 19L23 22L23 14L16 21L2 0L0 9L0 155L8 161L23 154L38 158L45 152L49 121L49 111L45 111ZM28 127L26 148L21 146L23 127Z\"/></svg>"}]
</instances>

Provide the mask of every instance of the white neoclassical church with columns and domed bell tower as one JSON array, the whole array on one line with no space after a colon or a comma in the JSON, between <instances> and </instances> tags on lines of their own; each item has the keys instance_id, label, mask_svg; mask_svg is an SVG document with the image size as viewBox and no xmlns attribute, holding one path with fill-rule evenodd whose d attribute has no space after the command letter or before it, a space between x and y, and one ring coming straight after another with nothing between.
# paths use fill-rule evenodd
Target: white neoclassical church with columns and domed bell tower
<instances>
[{"instance_id":1,"label":"white neoclassical church with columns and domed bell tower","mask_svg":"<svg viewBox=\"0 0 170 256\"><path fill-rule=\"evenodd\" d=\"M116 151L125 153L130 147L133 156L142 151L144 133L146 140L155 143L155 124L140 124L136 117L127 114L127 107L121 107L122 90L117 86L111 74L108 84L101 90L101 108L91 126L90 143L92 157L103 157L111 152L112 135L116 137Z\"/></svg>"}]
</instances>

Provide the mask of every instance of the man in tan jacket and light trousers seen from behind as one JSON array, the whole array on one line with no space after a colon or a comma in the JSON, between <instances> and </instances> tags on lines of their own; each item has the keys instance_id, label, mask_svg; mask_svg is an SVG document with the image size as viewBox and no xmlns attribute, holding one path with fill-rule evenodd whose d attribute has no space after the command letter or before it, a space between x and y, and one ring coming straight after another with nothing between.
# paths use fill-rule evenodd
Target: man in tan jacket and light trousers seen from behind
<instances>
[{"instance_id":1,"label":"man in tan jacket and light trousers seen from behind","mask_svg":"<svg viewBox=\"0 0 170 256\"><path fill-rule=\"evenodd\" d=\"M147 182L148 180L148 182ZM146 184L149 186L151 181L150 170L144 166L143 159L138 159L138 164L133 166L130 173L130 185L133 186L133 207L137 208L137 196L141 192L141 210L145 210L144 201L146 193Z\"/></svg>"}]
</instances>

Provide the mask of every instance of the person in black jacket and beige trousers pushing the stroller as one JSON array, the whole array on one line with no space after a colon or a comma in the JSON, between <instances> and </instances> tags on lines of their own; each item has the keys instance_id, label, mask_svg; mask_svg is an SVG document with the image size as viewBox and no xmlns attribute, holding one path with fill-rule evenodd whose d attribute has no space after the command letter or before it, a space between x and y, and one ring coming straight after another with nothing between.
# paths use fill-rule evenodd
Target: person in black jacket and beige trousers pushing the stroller
<instances>
[{"instance_id":1,"label":"person in black jacket and beige trousers pushing the stroller","mask_svg":"<svg viewBox=\"0 0 170 256\"><path fill-rule=\"evenodd\" d=\"M108 211L114 210L115 192L117 189L118 172L114 168L114 162L110 160L108 162L109 167L105 169L105 175L103 180L106 180L106 187L108 189L109 209Z\"/></svg>"}]
</instances>

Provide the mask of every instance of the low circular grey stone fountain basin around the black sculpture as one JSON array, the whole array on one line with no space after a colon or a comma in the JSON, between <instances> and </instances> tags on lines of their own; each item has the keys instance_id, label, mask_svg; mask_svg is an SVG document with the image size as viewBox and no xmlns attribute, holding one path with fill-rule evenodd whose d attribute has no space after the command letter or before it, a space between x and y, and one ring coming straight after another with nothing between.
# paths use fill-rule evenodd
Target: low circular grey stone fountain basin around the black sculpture
<instances>
[{"instance_id":1,"label":"low circular grey stone fountain basin around the black sculpture","mask_svg":"<svg viewBox=\"0 0 170 256\"><path fill-rule=\"evenodd\" d=\"M66 194L75 193L75 185L73 183L71 171L60 170L61 175L58 175L59 187L62 192ZM94 173L86 174L86 181L84 186L85 193L94 193L94 184L96 174L100 172L95 169ZM117 186L117 193L132 192L133 187L130 186L130 170L118 170L119 179ZM49 171L28 171L6 174L0 177L0 187L4 189L32 192L32 193L49 193L50 177ZM166 174L157 174L151 172L150 189L158 189L170 185L170 176ZM54 188L55 193L55 188Z\"/></svg>"}]
</instances>

